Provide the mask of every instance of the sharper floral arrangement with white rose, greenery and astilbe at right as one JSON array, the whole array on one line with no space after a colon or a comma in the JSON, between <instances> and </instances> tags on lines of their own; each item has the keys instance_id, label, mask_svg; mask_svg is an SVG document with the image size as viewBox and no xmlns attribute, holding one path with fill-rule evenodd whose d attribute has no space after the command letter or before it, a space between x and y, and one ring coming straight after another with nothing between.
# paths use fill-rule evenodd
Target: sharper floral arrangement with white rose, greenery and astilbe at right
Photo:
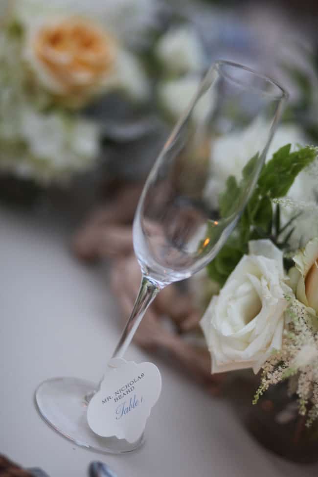
<instances>
[{"instance_id":1,"label":"sharper floral arrangement with white rose, greenery and astilbe at right","mask_svg":"<svg viewBox=\"0 0 318 477\"><path fill-rule=\"evenodd\" d=\"M317 155L314 146L287 144L264 165L236 230L207 268L219 293L201 320L212 372L260 372L254 404L288 383L297 406L282 422L298 408L304 429L316 429L318 419ZM240 187L234 174L219 198L221 216Z\"/></svg>"}]
</instances>

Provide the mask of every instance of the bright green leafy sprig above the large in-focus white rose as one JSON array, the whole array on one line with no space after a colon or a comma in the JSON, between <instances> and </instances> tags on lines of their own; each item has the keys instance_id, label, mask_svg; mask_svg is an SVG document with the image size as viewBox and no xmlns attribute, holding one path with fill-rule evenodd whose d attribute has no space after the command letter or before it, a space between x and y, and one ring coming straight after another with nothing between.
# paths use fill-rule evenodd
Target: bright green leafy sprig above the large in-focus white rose
<instances>
[{"instance_id":1,"label":"bright green leafy sprig above the large in-focus white rose","mask_svg":"<svg viewBox=\"0 0 318 477\"><path fill-rule=\"evenodd\" d=\"M279 248L288 246L288 240L293 232L293 228L290 227L298 215L281 227L279 205L276 205L273 213L272 200L285 196L299 172L316 157L317 148L306 146L291 152L291 144L286 144L273 154L273 158L261 170L236 230L207 266L207 272L212 280L217 281L220 286L224 285L228 275L248 252L249 240L268 238ZM221 218L229 217L237 209L237 201L241 201L247 193L250 176L257 167L257 159L258 155L250 159L239 183L234 176L227 179L226 190L219 201Z\"/></svg>"}]
</instances>

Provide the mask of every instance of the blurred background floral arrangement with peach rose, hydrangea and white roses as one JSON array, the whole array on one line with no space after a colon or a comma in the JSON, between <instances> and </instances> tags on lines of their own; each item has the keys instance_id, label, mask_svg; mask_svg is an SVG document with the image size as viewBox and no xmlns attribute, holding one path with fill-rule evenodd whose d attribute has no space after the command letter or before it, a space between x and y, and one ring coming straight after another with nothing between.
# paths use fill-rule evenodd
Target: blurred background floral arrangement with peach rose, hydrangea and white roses
<instances>
[{"instance_id":1,"label":"blurred background floral arrangement with peach rose, hydrangea and white roses","mask_svg":"<svg viewBox=\"0 0 318 477\"><path fill-rule=\"evenodd\" d=\"M160 8L156 0L1 3L2 176L65 184L96 166L109 137L144 134L153 118L138 119L151 104L165 121L179 116L198 88L203 47L185 23L164 31Z\"/></svg>"}]
</instances>

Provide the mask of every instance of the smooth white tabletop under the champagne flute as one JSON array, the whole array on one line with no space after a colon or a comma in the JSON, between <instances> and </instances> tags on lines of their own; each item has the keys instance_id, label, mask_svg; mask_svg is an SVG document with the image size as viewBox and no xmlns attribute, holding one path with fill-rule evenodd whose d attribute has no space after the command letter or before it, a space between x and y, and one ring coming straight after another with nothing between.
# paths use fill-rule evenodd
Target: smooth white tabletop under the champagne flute
<instances>
[{"instance_id":1,"label":"smooth white tabletop under the champagne flute","mask_svg":"<svg viewBox=\"0 0 318 477\"><path fill-rule=\"evenodd\" d=\"M97 454L47 426L34 405L35 388L63 375L97 383L121 326L107 264L78 263L70 229L0 208L0 453L50 477L87 476L92 460L108 463L118 477L317 476L317 465L298 466L262 449L225 401L134 345L128 359L154 360L163 383L141 449Z\"/></svg>"}]
</instances>

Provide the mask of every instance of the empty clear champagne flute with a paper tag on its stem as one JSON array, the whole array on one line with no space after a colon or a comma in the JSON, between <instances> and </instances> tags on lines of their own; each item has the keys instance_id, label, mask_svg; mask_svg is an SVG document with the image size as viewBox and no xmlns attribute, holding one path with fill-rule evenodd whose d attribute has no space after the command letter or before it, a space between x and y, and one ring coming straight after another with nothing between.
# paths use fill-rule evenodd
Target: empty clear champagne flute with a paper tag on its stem
<instances>
[{"instance_id":1,"label":"empty clear champagne flute with a paper tag on its stem","mask_svg":"<svg viewBox=\"0 0 318 477\"><path fill-rule=\"evenodd\" d=\"M276 82L242 65L217 61L208 70L137 206L133 236L142 279L113 358L124 356L159 291L201 270L225 244L257 182L286 99ZM231 150L227 142L233 140ZM238 185L220 214L220 197L232 192L227 170ZM46 422L78 445L111 453L138 448L143 436L132 444L91 431L85 406L96 389L86 380L56 378L42 383L35 398Z\"/></svg>"}]
</instances>

